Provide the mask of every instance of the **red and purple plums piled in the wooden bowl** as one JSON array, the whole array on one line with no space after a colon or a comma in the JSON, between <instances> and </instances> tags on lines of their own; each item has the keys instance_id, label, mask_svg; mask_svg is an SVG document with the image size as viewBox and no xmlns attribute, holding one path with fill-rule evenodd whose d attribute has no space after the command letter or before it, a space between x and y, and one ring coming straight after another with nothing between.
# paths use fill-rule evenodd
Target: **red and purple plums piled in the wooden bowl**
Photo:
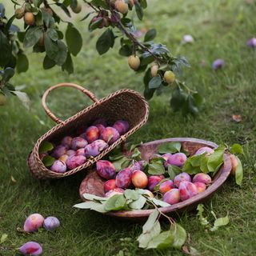
<instances>
[{"instance_id":1,"label":"red and purple plums piled in the wooden bowl","mask_svg":"<svg viewBox=\"0 0 256 256\"><path fill-rule=\"evenodd\" d=\"M195 154L212 154L214 150L210 147L202 147ZM163 165L178 166L182 168L186 162L186 154L163 154L165 159ZM96 170L100 177L105 178L104 183L105 196L110 197L114 194L122 194L126 189L145 189L148 195L154 197L154 194L160 195L164 202L173 205L185 201L196 194L202 193L207 186L211 184L211 178L208 174L198 173L190 175L182 172L175 176L174 180L166 179L164 175L146 175L143 171L145 161L134 162L132 166L116 172L116 169L110 161L99 160L96 163ZM163 180L165 179L165 180Z\"/></svg>"}]
</instances>

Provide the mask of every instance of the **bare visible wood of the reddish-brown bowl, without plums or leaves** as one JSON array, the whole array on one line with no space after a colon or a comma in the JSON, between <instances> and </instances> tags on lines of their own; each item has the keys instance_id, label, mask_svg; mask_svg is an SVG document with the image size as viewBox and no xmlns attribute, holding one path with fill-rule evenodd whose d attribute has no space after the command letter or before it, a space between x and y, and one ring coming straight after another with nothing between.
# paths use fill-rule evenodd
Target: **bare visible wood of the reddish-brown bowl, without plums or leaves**
<instances>
[{"instance_id":1,"label":"bare visible wood of the reddish-brown bowl, without plums or leaves","mask_svg":"<svg viewBox=\"0 0 256 256\"><path fill-rule=\"evenodd\" d=\"M139 150L142 153L142 159L148 160L150 155L155 154L158 152L158 146L165 142L181 142L182 149L187 150L190 152L190 155L194 154L199 148L202 146L209 146L211 148L216 148L217 145L214 142L207 142L197 138L166 138L157 140L154 142L147 142L142 144L139 147ZM168 207L161 207L159 208L162 210L164 214L174 214L178 213L182 210L194 210L199 203L206 201L206 199L210 198L214 194L216 190L226 181L229 177L231 171L231 161L230 161L230 154L224 154L224 163L221 166L218 173L215 174L213 178L213 183L209 186L204 192L190 198L184 202L178 202L172 206ZM98 176L95 170L92 170L90 174L86 176L86 178L82 181L79 193L83 201L85 199L82 197L82 194L95 194L98 196L104 196L104 182L102 178ZM107 215L129 219L132 221L141 221L146 220L146 218L152 213L153 209L151 210L122 210L116 212L107 213Z\"/></svg>"}]
</instances>

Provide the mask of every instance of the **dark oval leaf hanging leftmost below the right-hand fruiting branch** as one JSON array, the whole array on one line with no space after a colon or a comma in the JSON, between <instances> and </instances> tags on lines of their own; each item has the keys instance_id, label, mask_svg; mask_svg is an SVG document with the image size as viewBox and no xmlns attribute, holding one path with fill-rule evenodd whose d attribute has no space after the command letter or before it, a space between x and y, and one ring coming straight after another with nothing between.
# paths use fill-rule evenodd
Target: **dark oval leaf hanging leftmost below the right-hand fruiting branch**
<instances>
[{"instance_id":1,"label":"dark oval leaf hanging leftmost below the right-hand fruiting branch","mask_svg":"<svg viewBox=\"0 0 256 256\"><path fill-rule=\"evenodd\" d=\"M107 29L96 42L96 49L98 54L102 55L105 54L110 47L114 46L114 33L112 30Z\"/></svg>"}]
</instances>

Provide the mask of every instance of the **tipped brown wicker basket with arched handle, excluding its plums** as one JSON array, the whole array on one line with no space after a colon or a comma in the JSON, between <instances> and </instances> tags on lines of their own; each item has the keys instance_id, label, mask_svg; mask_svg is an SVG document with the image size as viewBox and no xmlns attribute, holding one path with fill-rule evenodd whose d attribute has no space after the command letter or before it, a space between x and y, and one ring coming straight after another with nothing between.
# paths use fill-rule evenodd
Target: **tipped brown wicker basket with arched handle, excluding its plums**
<instances>
[{"instance_id":1,"label":"tipped brown wicker basket with arched handle, excluding its plums","mask_svg":"<svg viewBox=\"0 0 256 256\"><path fill-rule=\"evenodd\" d=\"M51 113L46 106L46 97L50 91L63 86L73 87L81 90L82 93L86 94L94 102L94 104L86 107L86 109L78 112L78 114L74 114L74 116L68 118L66 121L60 120L53 113ZM146 100L141 94L134 90L118 90L114 94L110 94L107 97L98 100L89 90L86 90L82 86L78 86L73 83L61 83L56 86L51 86L42 96L42 106L46 110L46 114L57 122L58 125L54 126L51 130L38 139L34 149L28 157L27 162L30 167L30 171L37 178L63 178L71 174L75 174L79 170L86 169L113 150L115 146L118 146L118 144L124 142L126 138L130 136L130 134L133 134L136 130L142 127L146 123L149 116L149 107ZM110 145L106 150L103 150L102 153L97 157L88 159L88 161L82 166L78 166L77 168L69 170L64 174L53 172L43 165L38 154L39 146L43 141L58 143L66 135L75 136L79 127L90 126L91 123L98 118L105 118L106 122L108 122L110 125L114 124L114 122L119 119L126 120L129 122L130 130L126 134L122 135L121 138Z\"/></svg>"}]
</instances>

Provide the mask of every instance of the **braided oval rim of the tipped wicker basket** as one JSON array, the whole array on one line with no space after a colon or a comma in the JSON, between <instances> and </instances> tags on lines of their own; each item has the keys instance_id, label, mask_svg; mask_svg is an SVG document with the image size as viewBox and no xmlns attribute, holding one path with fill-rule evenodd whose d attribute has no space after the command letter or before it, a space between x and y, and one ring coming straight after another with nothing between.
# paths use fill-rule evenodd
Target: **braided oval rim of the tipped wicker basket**
<instances>
[{"instance_id":1,"label":"braided oval rim of the tipped wicker basket","mask_svg":"<svg viewBox=\"0 0 256 256\"><path fill-rule=\"evenodd\" d=\"M68 170L68 171L66 171L63 174L60 174L60 173L56 173L56 172L46 168L46 166L44 166L44 164L42 163L42 160L39 158L38 149L39 149L39 146L41 145L41 143L47 137L49 137L50 134L53 134L56 130L61 129L63 126L66 126L66 124L68 124L70 122L73 122L76 118L81 117L82 114L85 114L88 111L94 109L96 106L102 104L102 102L106 102L110 98L118 97L118 95L126 94L126 93L136 95L136 97L139 98L143 102L143 104L145 106L145 109L146 109L146 113L145 113L145 115L143 117L142 122L139 122L136 126L134 126L133 129L129 130L126 134L123 134L120 138L118 138L118 140L116 142L114 142L112 145L108 146L106 148L106 150L103 150L101 154L98 154L98 156L96 156L95 158L88 158L83 165L78 166L77 168L74 168L72 170ZM84 169L88 168L89 166L92 166L94 164L94 162L97 162L100 158L102 158L107 153L109 153L111 150L113 150L115 146L118 146L118 144L120 144L123 141L125 141L126 138L128 138L136 130L138 130L140 127L142 127L146 123L148 118L149 118L149 105L148 105L148 102L146 102L146 99L142 96L142 94L138 93L135 90L130 90L130 89L117 90L114 93L109 94L106 97L103 97L103 98L99 99L98 102L94 102L90 106L86 106L86 108L84 108L83 110L80 110L77 114L74 114L70 118L67 118L62 123L59 123L59 124L53 126L50 130L48 130L45 134L43 134L40 138L38 138L37 142L34 145L34 149L31 151L30 155L27 158L28 165L30 167L30 158L33 157L34 160L36 162L38 162L38 165L39 165L39 168L40 168L40 173L43 174L42 177L46 177L46 178L63 178L63 177L66 177L66 176L70 176L72 174L77 173L80 170L84 170ZM31 168L30 168L30 170L31 170Z\"/></svg>"}]
</instances>

